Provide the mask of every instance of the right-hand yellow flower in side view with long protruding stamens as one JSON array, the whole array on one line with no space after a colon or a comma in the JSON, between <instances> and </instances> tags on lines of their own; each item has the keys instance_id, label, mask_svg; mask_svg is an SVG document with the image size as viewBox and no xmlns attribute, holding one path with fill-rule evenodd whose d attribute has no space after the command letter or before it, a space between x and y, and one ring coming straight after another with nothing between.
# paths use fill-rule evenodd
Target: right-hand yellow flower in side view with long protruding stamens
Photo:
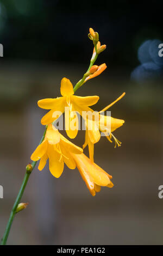
<instances>
[{"instance_id":1,"label":"right-hand yellow flower in side view with long protruding stamens","mask_svg":"<svg viewBox=\"0 0 163 256\"><path fill-rule=\"evenodd\" d=\"M118 99L116 99L110 105L102 109L102 111L99 111L97 121L96 121L96 116L95 116L95 120L89 119L87 117L85 119L85 117L83 117L85 119L85 124L86 124L85 143L83 145L83 149L88 145L90 160L92 162L94 161L93 160L94 144L97 143L101 138L100 131L104 133L105 137L110 142L112 142L111 137L115 139L115 148L116 148L116 145L118 145L118 147L121 146L121 142L118 141L118 139L116 139L116 137L112 134L112 132L115 131L118 127L121 127L124 124L124 120L113 118L108 115L102 115L101 113L106 111L112 105L114 105L118 100L122 99L124 95L125 93L123 93L120 97L118 97Z\"/></svg>"}]
</instances>

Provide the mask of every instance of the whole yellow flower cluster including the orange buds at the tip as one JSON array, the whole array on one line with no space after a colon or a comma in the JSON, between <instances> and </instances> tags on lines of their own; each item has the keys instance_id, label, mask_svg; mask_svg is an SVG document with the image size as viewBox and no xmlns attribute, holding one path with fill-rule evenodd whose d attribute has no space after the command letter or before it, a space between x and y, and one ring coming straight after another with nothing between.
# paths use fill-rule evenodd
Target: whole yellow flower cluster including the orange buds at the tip
<instances>
[{"instance_id":1,"label":"whole yellow flower cluster including the orange buds at the tip","mask_svg":"<svg viewBox=\"0 0 163 256\"><path fill-rule=\"evenodd\" d=\"M105 50L106 45L101 45L98 33L93 31L92 28L90 28L89 38L93 41L94 48L89 69L85 72L83 78L74 87L70 80L65 77L62 78L60 97L43 99L37 102L39 107L49 109L49 112L41 119L41 124L47 127L45 138L35 149L31 159L33 161L40 160L39 170L42 170L47 160L49 160L49 170L55 178L59 178L62 174L64 164L70 169L77 167L92 196L95 196L96 192L101 190L101 186L112 187L114 185L111 182L112 176L94 162L94 144L99 141L103 133L110 142L114 138L115 147L116 145L119 147L121 142L115 138L112 132L124 123L122 119L112 118L110 115L102 113L120 100L125 93L99 112L95 112L91 108L99 100L97 95L85 97L74 95L76 90L85 82L100 75L106 69L105 63L99 66L93 65L98 54ZM63 113L65 113L65 130L67 136L71 139L78 134L78 115L83 117L85 124L83 149L88 145L89 157L83 153L82 148L68 141L56 128L55 124Z\"/></svg>"}]
</instances>

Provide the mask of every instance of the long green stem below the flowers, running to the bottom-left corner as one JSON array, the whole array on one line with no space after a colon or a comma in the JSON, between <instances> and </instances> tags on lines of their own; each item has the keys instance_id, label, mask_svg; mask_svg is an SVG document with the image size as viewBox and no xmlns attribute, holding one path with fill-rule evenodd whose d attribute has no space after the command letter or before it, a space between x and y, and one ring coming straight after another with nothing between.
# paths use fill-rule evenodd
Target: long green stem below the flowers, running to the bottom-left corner
<instances>
[{"instance_id":1,"label":"long green stem below the flowers, running to the bottom-left corner","mask_svg":"<svg viewBox=\"0 0 163 256\"><path fill-rule=\"evenodd\" d=\"M41 141L40 141L39 144L41 144L43 139L45 138L46 130L47 130L47 127L45 129L45 132L43 133L43 136L42 136ZM31 164L32 165L32 170L34 169L36 163L37 163L37 161L33 161L32 162L32 164ZM9 236L9 232L10 232L10 228L11 228L12 222L13 222L15 214L16 214L17 206L20 203L20 200L21 200L21 198L23 196L23 192L24 192L24 190L26 188L26 185L27 185L27 182L28 182L28 179L29 179L29 176L30 176L30 173L32 172L32 170L30 170L30 171L26 170L26 174L24 176L24 179L23 179L20 191L18 192L18 195L16 197L15 203L14 203L14 205L12 207L11 214L10 214L10 217L9 217L9 221L7 223L7 227L5 229L5 232L4 232L2 241L1 241L1 245L5 245L6 242L7 242L7 239L8 239L8 236Z\"/></svg>"}]
</instances>

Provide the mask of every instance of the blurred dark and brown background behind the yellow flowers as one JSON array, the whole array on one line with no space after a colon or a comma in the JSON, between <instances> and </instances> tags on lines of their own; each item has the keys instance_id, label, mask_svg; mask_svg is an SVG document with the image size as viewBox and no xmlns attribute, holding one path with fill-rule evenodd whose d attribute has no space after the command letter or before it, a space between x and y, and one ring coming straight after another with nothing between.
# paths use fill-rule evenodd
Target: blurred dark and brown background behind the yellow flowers
<instances>
[{"instance_id":1,"label":"blurred dark and brown background behind the yellow flowers","mask_svg":"<svg viewBox=\"0 0 163 256\"><path fill-rule=\"evenodd\" d=\"M10 245L163 244L163 57L158 63L155 44L152 50L143 45L163 40L156 1L0 0L0 236L43 133L46 110L37 100L60 96L62 77L73 84L82 78L92 55L89 27L107 45L97 64L108 68L77 94L99 95L99 111L126 92L110 109L126 121L114 132L122 147L114 149L105 137L95 145L95 161L115 186L92 197L77 169L65 167L55 179L48 164L42 172L35 168L21 200L29 205L15 217ZM84 133L73 141L82 147Z\"/></svg>"}]
</instances>

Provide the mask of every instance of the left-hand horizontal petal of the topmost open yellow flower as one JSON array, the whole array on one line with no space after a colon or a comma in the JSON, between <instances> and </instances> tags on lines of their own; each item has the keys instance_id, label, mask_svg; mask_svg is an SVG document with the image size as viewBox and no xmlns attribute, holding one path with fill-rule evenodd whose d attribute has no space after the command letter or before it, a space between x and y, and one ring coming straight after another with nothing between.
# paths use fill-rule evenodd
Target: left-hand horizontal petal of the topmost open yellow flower
<instances>
[{"instance_id":1,"label":"left-hand horizontal petal of the topmost open yellow flower","mask_svg":"<svg viewBox=\"0 0 163 256\"><path fill-rule=\"evenodd\" d=\"M37 102L38 106L44 109L52 109L55 108L59 110L59 106L63 103L63 97L57 97L56 99L43 99Z\"/></svg>"}]
</instances>

